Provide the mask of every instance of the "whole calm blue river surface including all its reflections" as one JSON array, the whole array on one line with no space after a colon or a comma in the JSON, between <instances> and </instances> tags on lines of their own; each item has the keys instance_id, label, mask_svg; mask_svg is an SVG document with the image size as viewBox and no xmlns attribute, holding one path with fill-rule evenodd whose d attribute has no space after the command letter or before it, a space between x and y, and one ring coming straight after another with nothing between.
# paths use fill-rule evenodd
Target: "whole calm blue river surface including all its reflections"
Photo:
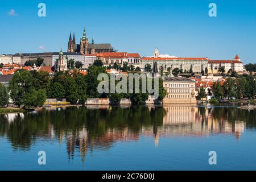
<instances>
[{"instance_id":1,"label":"whole calm blue river surface including all its reflections","mask_svg":"<svg viewBox=\"0 0 256 182\"><path fill-rule=\"evenodd\" d=\"M0 115L1 170L256 170L256 110L52 107ZM38 152L46 152L46 165ZM209 165L209 151L217 165Z\"/></svg>"}]
</instances>

